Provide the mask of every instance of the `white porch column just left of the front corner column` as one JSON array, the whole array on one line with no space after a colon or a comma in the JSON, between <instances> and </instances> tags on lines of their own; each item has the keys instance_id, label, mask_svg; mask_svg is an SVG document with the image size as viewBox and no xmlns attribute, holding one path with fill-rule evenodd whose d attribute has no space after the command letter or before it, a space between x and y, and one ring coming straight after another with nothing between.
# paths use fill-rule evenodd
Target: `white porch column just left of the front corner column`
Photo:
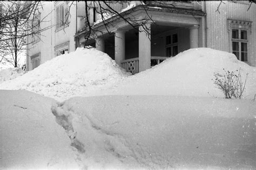
<instances>
[{"instance_id":1,"label":"white porch column just left of the front corner column","mask_svg":"<svg viewBox=\"0 0 256 170\"><path fill-rule=\"evenodd\" d=\"M114 60L119 66L125 59L125 31L116 31L114 33Z\"/></svg>"}]
</instances>

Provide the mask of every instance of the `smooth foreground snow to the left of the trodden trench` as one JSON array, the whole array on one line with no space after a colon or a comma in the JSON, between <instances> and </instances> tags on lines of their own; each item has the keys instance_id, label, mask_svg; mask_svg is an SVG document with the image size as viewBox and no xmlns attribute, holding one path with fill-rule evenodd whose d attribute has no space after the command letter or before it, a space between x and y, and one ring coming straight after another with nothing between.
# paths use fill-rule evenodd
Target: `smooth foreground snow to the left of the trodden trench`
<instances>
[{"instance_id":1,"label":"smooth foreground snow to the left of the trodden trench","mask_svg":"<svg viewBox=\"0 0 256 170\"><path fill-rule=\"evenodd\" d=\"M55 104L28 91L0 90L0 169L79 168L75 148L51 112Z\"/></svg>"}]
</instances>

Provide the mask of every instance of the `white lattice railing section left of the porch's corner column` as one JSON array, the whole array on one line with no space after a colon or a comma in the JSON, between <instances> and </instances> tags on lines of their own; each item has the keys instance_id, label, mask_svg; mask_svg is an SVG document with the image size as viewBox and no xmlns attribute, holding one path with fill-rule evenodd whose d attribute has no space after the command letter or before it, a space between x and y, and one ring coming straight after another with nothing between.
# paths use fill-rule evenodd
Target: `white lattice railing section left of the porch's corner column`
<instances>
[{"instance_id":1,"label":"white lattice railing section left of the porch's corner column","mask_svg":"<svg viewBox=\"0 0 256 170\"><path fill-rule=\"evenodd\" d=\"M122 63L122 67L126 71L131 72L132 74L136 74L139 72L139 58L138 57L123 60L121 63Z\"/></svg>"}]
</instances>

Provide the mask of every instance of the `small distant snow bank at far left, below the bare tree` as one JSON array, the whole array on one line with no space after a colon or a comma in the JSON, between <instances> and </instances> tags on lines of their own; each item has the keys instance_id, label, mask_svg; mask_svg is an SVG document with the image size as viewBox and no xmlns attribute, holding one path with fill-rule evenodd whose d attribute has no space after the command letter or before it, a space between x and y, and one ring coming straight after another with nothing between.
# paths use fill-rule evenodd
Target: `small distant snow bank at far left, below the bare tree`
<instances>
[{"instance_id":1,"label":"small distant snow bank at far left, below the bare tree","mask_svg":"<svg viewBox=\"0 0 256 170\"><path fill-rule=\"evenodd\" d=\"M21 68L9 68L5 70L0 70L0 84L3 81L12 80L19 76L22 76L25 73Z\"/></svg>"}]
</instances>

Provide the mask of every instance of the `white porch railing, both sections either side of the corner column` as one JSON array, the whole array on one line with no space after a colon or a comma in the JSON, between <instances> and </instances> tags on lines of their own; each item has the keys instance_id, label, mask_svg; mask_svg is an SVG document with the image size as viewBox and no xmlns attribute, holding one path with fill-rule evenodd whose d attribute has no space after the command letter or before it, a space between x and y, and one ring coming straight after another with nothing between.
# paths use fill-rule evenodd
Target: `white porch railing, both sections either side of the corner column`
<instances>
[{"instance_id":1,"label":"white porch railing, both sections either side of the corner column","mask_svg":"<svg viewBox=\"0 0 256 170\"><path fill-rule=\"evenodd\" d=\"M165 60L166 58L169 57L158 57L158 56L151 56L151 67L157 64L160 64ZM139 58L131 58L131 59L126 59L121 62L122 67L128 71L131 72L132 74L136 74L139 72Z\"/></svg>"}]
</instances>

